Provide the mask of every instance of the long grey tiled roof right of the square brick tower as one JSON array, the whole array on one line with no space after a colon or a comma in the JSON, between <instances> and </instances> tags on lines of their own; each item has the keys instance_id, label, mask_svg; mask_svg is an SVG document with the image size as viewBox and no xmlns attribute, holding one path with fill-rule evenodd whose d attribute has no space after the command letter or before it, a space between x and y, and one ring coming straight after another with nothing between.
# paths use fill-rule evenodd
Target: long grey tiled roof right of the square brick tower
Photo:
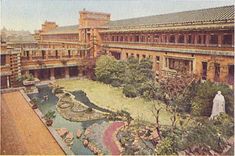
<instances>
[{"instance_id":1,"label":"long grey tiled roof right of the square brick tower","mask_svg":"<svg viewBox=\"0 0 235 156\"><path fill-rule=\"evenodd\" d=\"M234 20L234 6L224 6L217 8L184 11L177 13L161 14L139 18L110 21L106 26L109 29L119 29L123 27L135 28L140 26L157 26L167 24L185 24L197 22L214 22Z\"/></svg>"}]
</instances>

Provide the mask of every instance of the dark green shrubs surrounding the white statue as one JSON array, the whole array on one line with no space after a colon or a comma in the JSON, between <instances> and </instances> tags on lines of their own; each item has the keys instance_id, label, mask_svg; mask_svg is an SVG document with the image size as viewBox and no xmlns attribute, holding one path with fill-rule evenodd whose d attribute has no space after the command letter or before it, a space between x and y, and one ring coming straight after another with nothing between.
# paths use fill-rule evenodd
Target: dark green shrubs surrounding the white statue
<instances>
[{"instance_id":1,"label":"dark green shrubs surrounding the white statue","mask_svg":"<svg viewBox=\"0 0 235 156\"><path fill-rule=\"evenodd\" d=\"M233 90L224 84L215 84L209 81L204 83L193 83L185 90L184 94L174 100L173 106L178 112L191 113L195 116L210 116L213 99L218 91L225 98L226 113L233 116L234 95Z\"/></svg>"}]
</instances>

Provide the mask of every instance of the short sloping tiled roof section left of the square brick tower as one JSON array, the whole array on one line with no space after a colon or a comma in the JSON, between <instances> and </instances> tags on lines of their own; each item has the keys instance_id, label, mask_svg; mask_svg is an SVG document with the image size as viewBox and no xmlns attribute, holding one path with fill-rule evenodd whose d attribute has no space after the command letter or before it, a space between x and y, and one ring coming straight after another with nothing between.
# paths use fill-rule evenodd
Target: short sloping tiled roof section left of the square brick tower
<instances>
[{"instance_id":1,"label":"short sloping tiled roof section left of the square brick tower","mask_svg":"<svg viewBox=\"0 0 235 156\"><path fill-rule=\"evenodd\" d=\"M78 25L57 27L42 34L68 34L68 33L78 33Z\"/></svg>"}]
</instances>

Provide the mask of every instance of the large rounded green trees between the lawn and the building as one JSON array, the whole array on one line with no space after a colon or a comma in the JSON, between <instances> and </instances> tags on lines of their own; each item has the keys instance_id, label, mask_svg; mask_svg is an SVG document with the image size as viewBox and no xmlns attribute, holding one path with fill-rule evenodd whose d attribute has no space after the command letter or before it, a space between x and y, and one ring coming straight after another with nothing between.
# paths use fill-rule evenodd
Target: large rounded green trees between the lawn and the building
<instances>
[{"instance_id":1,"label":"large rounded green trees between the lawn and the building","mask_svg":"<svg viewBox=\"0 0 235 156\"><path fill-rule=\"evenodd\" d=\"M154 82L152 62L147 58L139 61L129 57L127 61L120 61L111 56L101 56L97 60L95 73L98 81L114 87L123 86L127 97L141 95L152 99L159 88Z\"/></svg>"}]
</instances>

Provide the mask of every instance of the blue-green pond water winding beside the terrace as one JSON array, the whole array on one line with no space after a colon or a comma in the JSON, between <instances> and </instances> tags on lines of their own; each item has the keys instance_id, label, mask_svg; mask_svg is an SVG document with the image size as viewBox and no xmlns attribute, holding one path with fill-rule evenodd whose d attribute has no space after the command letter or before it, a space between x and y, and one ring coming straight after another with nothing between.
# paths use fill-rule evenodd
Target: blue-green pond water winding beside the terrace
<instances>
[{"instance_id":1,"label":"blue-green pond water winding beside the terrace","mask_svg":"<svg viewBox=\"0 0 235 156\"><path fill-rule=\"evenodd\" d=\"M49 110L56 112L56 117L53 119L53 127L54 128L67 128L74 135L74 143L72 145L72 151L76 155L93 155L93 153L83 146L82 140L77 139L76 134L78 129L85 129L94 123L102 123L106 122L105 119L98 119L92 121L83 121L83 122L72 122L64 119L57 111L56 111L56 103L58 101L58 97L52 93L52 89L47 85L38 86L39 93L36 94L28 94L28 96L32 98L36 98L38 101L38 108L43 114L46 114ZM43 96L48 95L48 100L43 101ZM79 98L76 99L86 99L87 97L82 97L82 94L79 95ZM85 95L85 94L84 94ZM87 99L86 99L87 100ZM89 99L88 99L89 100ZM94 105L95 107L95 105ZM93 108L94 108L93 107Z\"/></svg>"}]
</instances>

